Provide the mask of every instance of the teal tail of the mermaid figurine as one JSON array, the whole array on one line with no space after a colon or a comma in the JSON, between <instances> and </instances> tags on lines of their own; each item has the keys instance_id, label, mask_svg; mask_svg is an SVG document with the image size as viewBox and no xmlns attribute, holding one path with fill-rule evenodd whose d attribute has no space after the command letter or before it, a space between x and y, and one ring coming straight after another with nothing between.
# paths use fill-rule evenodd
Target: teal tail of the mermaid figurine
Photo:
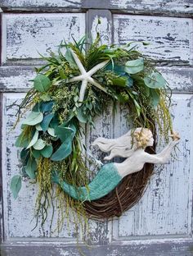
<instances>
[{"instance_id":1,"label":"teal tail of the mermaid figurine","mask_svg":"<svg viewBox=\"0 0 193 256\"><path fill-rule=\"evenodd\" d=\"M107 163L101 167L101 170L98 171L95 178L87 185L87 187L82 186L75 188L65 181L60 183L56 174L52 177L52 181L61 185L61 188L65 193L80 201L100 199L105 196L105 194L110 193L111 190L114 190L121 180L122 177L119 175L117 167L114 166L113 162Z\"/></svg>"}]
</instances>

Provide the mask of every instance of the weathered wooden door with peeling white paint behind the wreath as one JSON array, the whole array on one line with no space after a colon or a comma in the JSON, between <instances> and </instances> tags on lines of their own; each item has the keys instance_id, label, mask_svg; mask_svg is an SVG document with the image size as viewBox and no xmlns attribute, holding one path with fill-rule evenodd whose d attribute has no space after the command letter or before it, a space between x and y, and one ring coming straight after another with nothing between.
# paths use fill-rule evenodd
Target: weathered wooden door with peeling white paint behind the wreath
<instances>
[{"instance_id":1,"label":"weathered wooden door with peeling white paint behind the wreath","mask_svg":"<svg viewBox=\"0 0 193 256\"><path fill-rule=\"evenodd\" d=\"M79 255L76 231L70 223L61 234L49 237L45 231L31 231L34 223L36 186L25 182L14 200L10 192L11 176L17 173L18 152L14 147L19 127L16 104L29 89L39 53L56 49L61 39L79 39L95 33L97 19L103 43L147 41L141 47L158 61L173 89L173 123L182 140L178 160L171 160L152 176L143 198L122 217L109 222L91 221L93 249L86 255L190 256L192 243L192 172L193 172L193 74L192 74L192 0L0 0L1 13L1 204L0 235L2 255L50 256ZM90 135L119 136L127 130L125 110L115 117L105 112L98 118L98 129ZM89 140L89 139L88 139ZM80 239L83 239L83 237ZM97 246L96 246L97 245ZM80 245L81 246L81 245Z\"/></svg>"}]
</instances>

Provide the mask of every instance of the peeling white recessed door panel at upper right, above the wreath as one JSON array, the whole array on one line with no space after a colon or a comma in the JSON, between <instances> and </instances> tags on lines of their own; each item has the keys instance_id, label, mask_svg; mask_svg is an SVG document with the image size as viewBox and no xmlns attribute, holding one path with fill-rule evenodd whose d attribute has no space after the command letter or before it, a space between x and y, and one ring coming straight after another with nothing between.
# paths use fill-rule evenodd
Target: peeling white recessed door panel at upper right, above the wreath
<instances>
[{"instance_id":1,"label":"peeling white recessed door panel at upper right, above the wreath","mask_svg":"<svg viewBox=\"0 0 193 256\"><path fill-rule=\"evenodd\" d=\"M192 63L191 31L191 19L114 15L114 43L146 41L139 49L157 60Z\"/></svg>"}]
</instances>

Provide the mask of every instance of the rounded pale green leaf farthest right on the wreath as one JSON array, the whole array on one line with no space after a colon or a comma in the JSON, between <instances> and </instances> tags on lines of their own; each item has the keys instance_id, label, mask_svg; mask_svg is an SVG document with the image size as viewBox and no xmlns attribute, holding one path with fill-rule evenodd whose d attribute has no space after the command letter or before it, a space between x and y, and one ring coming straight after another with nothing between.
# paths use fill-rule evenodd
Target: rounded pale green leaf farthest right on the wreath
<instances>
[{"instance_id":1,"label":"rounded pale green leaf farthest right on the wreath","mask_svg":"<svg viewBox=\"0 0 193 256\"><path fill-rule=\"evenodd\" d=\"M158 72L152 72L144 78L145 85L152 89L163 88L166 85L166 80Z\"/></svg>"}]
</instances>

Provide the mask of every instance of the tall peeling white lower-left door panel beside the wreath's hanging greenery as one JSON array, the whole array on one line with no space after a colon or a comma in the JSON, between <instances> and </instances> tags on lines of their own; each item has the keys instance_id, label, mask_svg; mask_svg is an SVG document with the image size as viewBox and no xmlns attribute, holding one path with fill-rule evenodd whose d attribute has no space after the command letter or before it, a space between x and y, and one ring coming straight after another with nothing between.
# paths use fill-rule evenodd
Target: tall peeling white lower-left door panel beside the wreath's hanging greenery
<instances>
[{"instance_id":1,"label":"tall peeling white lower-left door panel beside the wreath's hanging greenery","mask_svg":"<svg viewBox=\"0 0 193 256\"><path fill-rule=\"evenodd\" d=\"M22 189L18 199L13 199L10 190L11 177L18 174L20 171L19 158L20 150L15 147L16 136L20 135L20 124L15 130L11 127L16 121L16 106L11 106L13 103L19 103L20 98L24 94L4 94L3 96L3 115L2 115L2 185L3 185L3 203L4 203L4 217L5 217L5 235L7 240L13 237L41 237L49 236L49 218L44 231L41 226L31 231L34 228L34 205L35 198L38 193L38 185L32 185L29 181L22 182ZM56 205L55 205L56 207ZM52 212L49 212L49 215ZM52 231L56 229L57 210L55 208L55 217L52 226ZM31 222L32 221L32 222ZM64 240L76 240L76 231L72 222L67 223L65 220L64 228L61 231L60 237ZM57 237L57 231L52 234L52 237Z\"/></svg>"}]
</instances>

